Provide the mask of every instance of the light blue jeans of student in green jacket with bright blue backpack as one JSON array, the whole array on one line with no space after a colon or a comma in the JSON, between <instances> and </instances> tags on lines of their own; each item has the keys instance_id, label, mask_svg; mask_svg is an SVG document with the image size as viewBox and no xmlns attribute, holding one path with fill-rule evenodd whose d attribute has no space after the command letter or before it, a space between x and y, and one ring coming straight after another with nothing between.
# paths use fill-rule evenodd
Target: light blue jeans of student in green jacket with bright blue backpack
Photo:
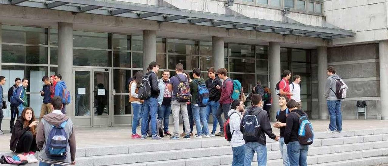
<instances>
[{"instance_id":1,"label":"light blue jeans of student in green jacket with bright blue backpack","mask_svg":"<svg viewBox=\"0 0 388 166\"><path fill-rule=\"evenodd\" d=\"M197 135L209 135L208 121L206 120L206 107L199 107L191 104L195 126L197 128ZM202 133L201 123L205 131Z\"/></svg>"}]
</instances>

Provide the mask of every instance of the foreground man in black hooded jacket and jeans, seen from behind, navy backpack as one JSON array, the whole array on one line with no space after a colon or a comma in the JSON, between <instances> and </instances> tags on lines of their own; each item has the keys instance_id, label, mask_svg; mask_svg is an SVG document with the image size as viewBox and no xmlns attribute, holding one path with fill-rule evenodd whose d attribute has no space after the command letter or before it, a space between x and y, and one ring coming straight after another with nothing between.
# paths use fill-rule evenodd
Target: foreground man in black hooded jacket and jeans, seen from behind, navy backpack
<instances>
[{"instance_id":1,"label":"foreground man in black hooded jacket and jeans, seen from behind, navy backpack","mask_svg":"<svg viewBox=\"0 0 388 166\"><path fill-rule=\"evenodd\" d=\"M264 133L268 135L269 138L274 139L275 141L279 140L279 136L272 133L271 123L269 122L267 111L263 110L260 106L262 105L262 97L259 94L253 94L251 97L252 107L248 109L248 111L244 112L244 116L242 117L240 123L240 130L244 137L244 119L247 115L256 115L258 126L260 127L260 136L258 140L253 142L248 142L245 140L244 151L245 151L245 159L244 166L250 166L253 155L255 152L257 153L257 163L259 166L267 165L267 147L265 144L267 143L267 138Z\"/></svg>"}]
</instances>

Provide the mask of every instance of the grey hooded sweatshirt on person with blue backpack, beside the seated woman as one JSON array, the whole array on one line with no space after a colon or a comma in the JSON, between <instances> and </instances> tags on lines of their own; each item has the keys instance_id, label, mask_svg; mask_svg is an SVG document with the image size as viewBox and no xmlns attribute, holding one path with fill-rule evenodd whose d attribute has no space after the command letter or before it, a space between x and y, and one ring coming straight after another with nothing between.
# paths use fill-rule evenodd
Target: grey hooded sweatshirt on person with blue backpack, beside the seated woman
<instances>
[{"instance_id":1,"label":"grey hooded sweatshirt on person with blue backpack, beside the seated woman","mask_svg":"<svg viewBox=\"0 0 388 166\"><path fill-rule=\"evenodd\" d=\"M59 114L56 112L60 112L59 110L54 110L52 113L43 116L42 121L40 121L38 125L38 131L36 133L36 144L40 149L40 160L49 163L49 164L60 164L62 166L70 166L71 163L75 161L75 152L76 152L76 143L75 143L75 133L74 133L74 125L71 119L65 114ZM54 160L50 159L46 155L46 142L48 139L45 136L50 134L52 126L60 126L64 121L68 121L65 126L65 132L68 138L67 145L67 158L63 160Z\"/></svg>"}]
</instances>

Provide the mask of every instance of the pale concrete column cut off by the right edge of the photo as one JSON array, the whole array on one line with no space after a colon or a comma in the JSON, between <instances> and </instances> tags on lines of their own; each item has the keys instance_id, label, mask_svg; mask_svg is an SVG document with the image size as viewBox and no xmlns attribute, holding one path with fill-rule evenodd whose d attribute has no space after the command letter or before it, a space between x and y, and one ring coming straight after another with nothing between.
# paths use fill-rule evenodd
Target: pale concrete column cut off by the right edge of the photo
<instances>
[{"instance_id":1,"label":"pale concrete column cut off by the right edge of the photo","mask_svg":"<svg viewBox=\"0 0 388 166\"><path fill-rule=\"evenodd\" d=\"M388 120L388 41L379 42L381 120Z\"/></svg>"}]
</instances>

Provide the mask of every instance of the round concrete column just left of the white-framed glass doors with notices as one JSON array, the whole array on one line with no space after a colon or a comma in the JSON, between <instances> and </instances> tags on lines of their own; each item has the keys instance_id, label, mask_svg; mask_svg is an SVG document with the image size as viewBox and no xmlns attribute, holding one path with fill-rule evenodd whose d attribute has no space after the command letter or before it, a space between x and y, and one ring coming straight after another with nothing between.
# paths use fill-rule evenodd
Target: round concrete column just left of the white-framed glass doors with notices
<instances>
[{"instance_id":1,"label":"round concrete column just left of the white-framed glass doors with notices","mask_svg":"<svg viewBox=\"0 0 388 166\"><path fill-rule=\"evenodd\" d=\"M58 22L58 74L62 75L67 90L72 94L71 102L66 105L66 114L73 118L73 24Z\"/></svg>"}]
</instances>

